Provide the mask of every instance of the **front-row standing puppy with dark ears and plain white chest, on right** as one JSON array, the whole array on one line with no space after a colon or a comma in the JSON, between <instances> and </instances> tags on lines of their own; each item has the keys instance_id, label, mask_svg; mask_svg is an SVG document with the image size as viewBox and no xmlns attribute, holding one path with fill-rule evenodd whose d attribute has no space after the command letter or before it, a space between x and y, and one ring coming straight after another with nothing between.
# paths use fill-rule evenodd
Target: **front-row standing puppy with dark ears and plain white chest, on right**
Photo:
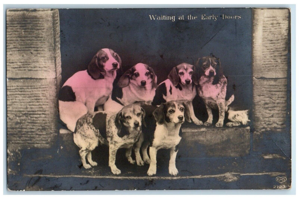
<instances>
[{"instance_id":1,"label":"front-row standing puppy with dark ears and plain white chest, on right","mask_svg":"<svg viewBox=\"0 0 299 199\"><path fill-rule=\"evenodd\" d=\"M176 154L178 144L181 140L181 124L184 121L191 122L188 106L182 101L169 101L162 103L159 107L151 105L141 106L145 111L145 126L142 127L142 134L135 144L135 156L138 165L149 163L147 174L156 174L156 154L159 149L170 149L169 174L177 175ZM142 146L142 148L141 148ZM147 147L149 146L149 156ZM139 154L142 150L143 160Z\"/></svg>"}]
</instances>

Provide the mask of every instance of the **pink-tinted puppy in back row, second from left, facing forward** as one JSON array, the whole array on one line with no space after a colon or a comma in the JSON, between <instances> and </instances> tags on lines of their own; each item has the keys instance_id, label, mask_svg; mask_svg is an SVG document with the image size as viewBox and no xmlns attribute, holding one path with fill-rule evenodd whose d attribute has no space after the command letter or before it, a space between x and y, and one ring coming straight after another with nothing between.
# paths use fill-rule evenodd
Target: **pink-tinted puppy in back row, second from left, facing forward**
<instances>
[{"instance_id":1,"label":"pink-tinted puppy in back row, second from left, facing forward","mask_svg":"<svg viewBox=\"0 0 299 199\"><path fill-rule=\"evenodd\" d=\"M157 88L157 76L146 64L138 63L127 70L114 85L111 97L104 104L105 111L117 112L123 106L152 103Z\"/></svg>"}]
</instances>

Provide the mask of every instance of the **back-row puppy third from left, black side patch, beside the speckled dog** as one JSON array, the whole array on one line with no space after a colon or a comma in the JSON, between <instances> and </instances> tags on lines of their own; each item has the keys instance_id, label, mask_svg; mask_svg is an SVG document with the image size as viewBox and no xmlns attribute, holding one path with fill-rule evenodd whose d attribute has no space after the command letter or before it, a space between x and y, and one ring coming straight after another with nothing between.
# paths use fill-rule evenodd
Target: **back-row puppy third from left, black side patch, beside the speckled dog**
<instances>
[{"instance_id":1,"label":"back-row puppy third from left, black side patch, beside the speckled dog","mask_svg":"<svg viewBox=\"0 0 299 199\"><path fill-rule=\"evenodd\" d=\"M194 71L195 67L187 63L181 63L174 67L170 71L168 79L158 85L152 105L160 105L172 100L183 100L188 106L193 123L202 125L202 121L197 119L194 114L192 104L192 100L196 96L195 85L198 83L193 80Z\"/></svg>"}]
</instances>

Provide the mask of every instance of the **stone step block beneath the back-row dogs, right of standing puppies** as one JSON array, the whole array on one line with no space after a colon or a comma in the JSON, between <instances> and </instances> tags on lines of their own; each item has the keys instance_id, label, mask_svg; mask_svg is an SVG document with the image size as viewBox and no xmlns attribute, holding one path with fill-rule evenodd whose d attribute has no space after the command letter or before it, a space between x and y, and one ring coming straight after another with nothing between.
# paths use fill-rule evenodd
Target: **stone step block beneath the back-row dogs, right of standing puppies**
<instances>
[{"instance_id":1,"label":"stone step block beneath the back-row dogs, right of standing puppies","mask_svg":"<svg viewBox=\"0 0 299 199\"><path fill-rule=\"evenodd\" d=\"M196 157L240 157L249 154L250 128L183 127L180 154Z\"/></svg>"}]
</instances>

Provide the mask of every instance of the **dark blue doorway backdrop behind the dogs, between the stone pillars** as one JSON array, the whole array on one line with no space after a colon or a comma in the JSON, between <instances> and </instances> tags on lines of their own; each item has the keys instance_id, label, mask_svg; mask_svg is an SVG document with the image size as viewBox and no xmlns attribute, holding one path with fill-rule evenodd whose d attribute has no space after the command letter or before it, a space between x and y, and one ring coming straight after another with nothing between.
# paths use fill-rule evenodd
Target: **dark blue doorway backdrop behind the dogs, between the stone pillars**
<instances>
[{"instance_id":1,"label":"dark blue doorway backdrop behind the dogs, between the stone pillars","mask_svg":"<svg viewBox=\"0 0 299 199\"><path fill-rule=\"evenodd\" d=\"M85 70L101 48L118 52L126 70L138 62L154 68L158 83L182 62L195 64L199 57L219 57L228 77L228 95L235 104L252 105L251 9L60 9L62 84ZM186 20L187 15L198 16ZM202 20L201 15L218 15ZM222 14L242 19L220 19ZM150 20L149 15L176 16ZM184 15L185 20L178 20Z\"/></svg>"}]
</instances>

